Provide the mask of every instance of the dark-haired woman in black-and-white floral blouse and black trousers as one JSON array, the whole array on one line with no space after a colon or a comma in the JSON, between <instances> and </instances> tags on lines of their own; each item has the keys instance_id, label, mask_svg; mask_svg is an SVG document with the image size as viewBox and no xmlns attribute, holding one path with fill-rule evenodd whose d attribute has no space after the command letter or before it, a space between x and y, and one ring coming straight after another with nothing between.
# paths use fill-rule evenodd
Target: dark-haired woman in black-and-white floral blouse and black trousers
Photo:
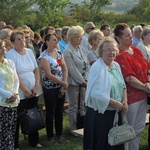
<instances>
[{"instance_id":1,"label":"dark-haired woman in black-and-white floral blouse and black trousers","mask_svg":"<svg viewBox=\"0 0 150 150\"><path fill-rule=\"evenodd\" d=\"M42 87L46 106L46 132L50 143L65 141L63 131L63 106L68 87L68 71L62 53L57 49L55 33L45 36L45 49L39 57L42 68ZM56 137L53 123L55 119Z\"/></svg>"}]
</instances>

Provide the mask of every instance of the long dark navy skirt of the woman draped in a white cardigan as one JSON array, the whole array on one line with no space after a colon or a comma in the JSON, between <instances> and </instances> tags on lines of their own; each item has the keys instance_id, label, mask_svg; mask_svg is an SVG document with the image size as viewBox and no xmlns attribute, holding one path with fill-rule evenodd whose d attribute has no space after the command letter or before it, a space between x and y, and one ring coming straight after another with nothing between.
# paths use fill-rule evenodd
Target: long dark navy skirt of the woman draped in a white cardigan
<instances>
[{"instance_id":1,"label":"long dark navy skirt of the woman draped in a white cardigan","mask_svg":"<svg viewBox=\"0 0 150 150\"><path fill-rule=\"evenodd\" d=\"M84 123L84 150L124 150L124 144L110 146L108 132L113 127L115 111L106 110L104 114L87 107ZM118 124L122 124L121 113Z\"/></svg>"}]
</instances>

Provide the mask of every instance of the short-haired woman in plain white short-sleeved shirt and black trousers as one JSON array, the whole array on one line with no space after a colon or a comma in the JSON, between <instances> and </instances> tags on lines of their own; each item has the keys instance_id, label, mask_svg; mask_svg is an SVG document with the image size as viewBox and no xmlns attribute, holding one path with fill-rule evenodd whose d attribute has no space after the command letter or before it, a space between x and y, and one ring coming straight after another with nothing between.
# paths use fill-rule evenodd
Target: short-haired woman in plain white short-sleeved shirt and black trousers
<instances>
[{"instance_id":1,"label":"short-haired woman in plain white short-sleeved shirt and black trousers","mask_svg":"<svg viewBox=\"0 0 150 150\"><path fill-rule=\"evenodd\" d=\"M38 102L38 88L39 88L39 69L32 50L25 48L25 37L22 31L14 31L10 37L14 45L14 49L7 52L6 58L13 60L16 65L20 87L19 96L20 103L18 106L18 113L24 109L33 108L37 106ZM26 106L27 104L27 106ZM29 143L34 147L42 147L39 144L38 131L28 134ZM15 148L19 148L19 119L17 122Z\"/></svg>"}]
</instances>

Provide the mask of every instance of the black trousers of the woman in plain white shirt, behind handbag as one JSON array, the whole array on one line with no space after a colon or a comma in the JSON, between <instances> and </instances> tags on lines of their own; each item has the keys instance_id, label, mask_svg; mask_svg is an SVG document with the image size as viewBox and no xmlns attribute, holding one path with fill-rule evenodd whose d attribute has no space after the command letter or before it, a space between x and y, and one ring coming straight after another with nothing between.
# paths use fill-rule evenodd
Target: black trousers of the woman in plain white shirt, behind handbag
<instances>
[{"instance_id":1,"label":"black trousers of the woman in plain white shirt, behind handbag","mask_svg":"<svg viewBox=\"0 0 150 150\"><path fill-rule=\"evenodd\" d=\"M18 105L18 114L20 112L23 112L24 109L26 109L26 108L30 109L30 108L36 107L37 102L38 102L38 97L33 97L30 99L21 100L19 105ZM16 128L16 133L15 133L15 148L19 147L19 124L20 124L19 119L17 118L17 128ZM28 134L28 140L32 146L36 146L39 143L38 131L29 133Z\"/></svg>"}]
</instances>

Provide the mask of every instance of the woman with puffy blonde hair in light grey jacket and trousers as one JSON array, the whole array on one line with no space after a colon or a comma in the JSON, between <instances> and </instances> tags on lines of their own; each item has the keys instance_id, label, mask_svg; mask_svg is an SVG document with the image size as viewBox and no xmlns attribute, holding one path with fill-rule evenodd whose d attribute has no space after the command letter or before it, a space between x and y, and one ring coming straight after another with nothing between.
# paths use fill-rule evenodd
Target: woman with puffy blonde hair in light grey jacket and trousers
<instances>
[{"instance_id":1,"label":"woman with puffy blonde hair in light grey jacket and trousers","mask_svg":"<svg viewBox=\"0 0 150 150\"><path fill-rule=\"evenodd\" d=\"M71 27L68 32L69 44L64 51L68 67L68 98L70 130L76 130L78 97L80 96L80 115L84 115L85 87L89 71L86 51L80 46L84 30L80 26ZM80 88L81 87L81 88ZM79 89L81 91L79 92ZM80 94L79 94L80 93Z\"/></svg>"}]
</instances>

